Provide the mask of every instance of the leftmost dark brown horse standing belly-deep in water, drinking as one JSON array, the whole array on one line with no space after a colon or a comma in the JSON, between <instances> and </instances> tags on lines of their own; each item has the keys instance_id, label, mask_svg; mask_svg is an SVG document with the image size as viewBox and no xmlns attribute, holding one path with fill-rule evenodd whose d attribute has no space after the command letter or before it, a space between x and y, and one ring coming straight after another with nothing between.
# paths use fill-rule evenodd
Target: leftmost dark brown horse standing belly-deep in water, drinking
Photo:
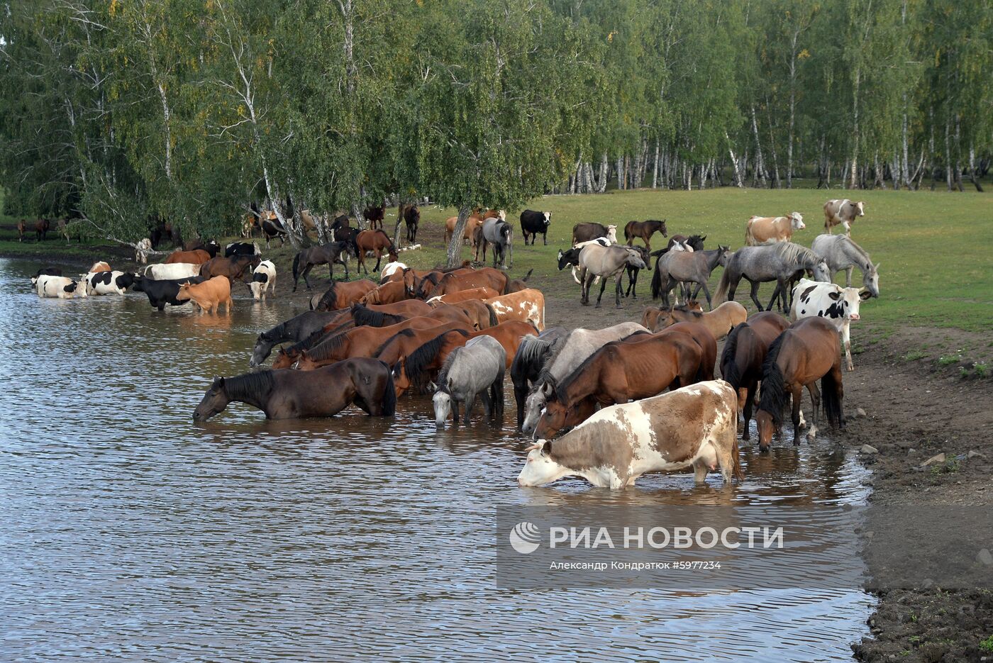
<instances>
[{"instance_id":1,"label":"leftmost dark brown horse standing belly-deep in water, drinking","mask_svg":"<svg viewBox=\"0 0 993 663\"><path fill-rule=\"evenodd\" d=\"M261 410L266 419L331 417L349 405L374 417L392 417L396 412L389 366L366 358L339 361L312 371L262 370L214 378L193 411L194 421L207 421L231 401Z\"/></svg>"}]
</instances>

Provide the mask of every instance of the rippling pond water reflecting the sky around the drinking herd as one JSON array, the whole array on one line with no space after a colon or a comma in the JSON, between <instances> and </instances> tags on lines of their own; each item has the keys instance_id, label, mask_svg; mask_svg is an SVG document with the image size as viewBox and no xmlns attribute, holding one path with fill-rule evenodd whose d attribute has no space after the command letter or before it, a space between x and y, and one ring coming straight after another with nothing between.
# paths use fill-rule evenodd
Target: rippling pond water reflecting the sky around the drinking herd
<instances>
[{"instance_id":1,"label":"rippling pond water reflecting the sky around the drinking herd","mask_svg":"<svg viewBox=\"0 0 993 663\"><path fill-rule=\"evenodd\" d=\"M0 262L0 658L849 660L864 632L850 591L493 589L496 504L863 501L825 438L744 451L733 491L682 474L613 492L518 488L511 402L499 429L438 432L422 396L395 420L232 404L197 426L213 375L244 372L291 304L242 286L230 318L40 300L35 269Z\"/></svg>"}]
</instances>

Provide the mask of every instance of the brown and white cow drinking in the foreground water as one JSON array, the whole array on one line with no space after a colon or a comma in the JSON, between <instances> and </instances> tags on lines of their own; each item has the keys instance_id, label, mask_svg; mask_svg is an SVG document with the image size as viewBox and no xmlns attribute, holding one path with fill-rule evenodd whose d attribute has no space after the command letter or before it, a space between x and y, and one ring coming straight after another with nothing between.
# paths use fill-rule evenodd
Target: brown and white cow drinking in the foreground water
<instances>
[{"instance_id":1,"label":"brown and white cow drinking in the foreground water","mask_svg":"<svg viewBox=\"0 0 993 663\"><path fill-rule=\"evenodd\" d=\"M606 407L554 441L528 448L522 486L582 476L601 488L634 485L649 471L693 467L701 483L721 470L725 484L744 477L738 458L738 397L724 380Z\"/></svg>"}]
</instances>

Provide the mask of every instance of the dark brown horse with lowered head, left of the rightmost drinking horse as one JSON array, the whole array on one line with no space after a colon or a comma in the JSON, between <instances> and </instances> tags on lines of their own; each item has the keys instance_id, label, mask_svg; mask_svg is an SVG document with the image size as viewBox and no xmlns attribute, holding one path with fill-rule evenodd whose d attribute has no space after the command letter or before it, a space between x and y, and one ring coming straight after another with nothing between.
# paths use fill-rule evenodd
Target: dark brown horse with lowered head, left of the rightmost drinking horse
<instances>
[{"instance_id":1,"label":"dark brown horse with lowered head, left of the rightmost drinking horse","mask_svg":"<svg viewBox=\"0 0 993 663\"><path fill-rule=\"evenodd\" d=\"M721 376L738 392L738 411L745 418L745 432L742 434L745 440L752 437L748 424L752 420L752 404L762 378L762 364L766 361L769 346L787 327L789 322L780 314L764 311L731 330L724 342Z\"/></svg>"}]
</instances>

